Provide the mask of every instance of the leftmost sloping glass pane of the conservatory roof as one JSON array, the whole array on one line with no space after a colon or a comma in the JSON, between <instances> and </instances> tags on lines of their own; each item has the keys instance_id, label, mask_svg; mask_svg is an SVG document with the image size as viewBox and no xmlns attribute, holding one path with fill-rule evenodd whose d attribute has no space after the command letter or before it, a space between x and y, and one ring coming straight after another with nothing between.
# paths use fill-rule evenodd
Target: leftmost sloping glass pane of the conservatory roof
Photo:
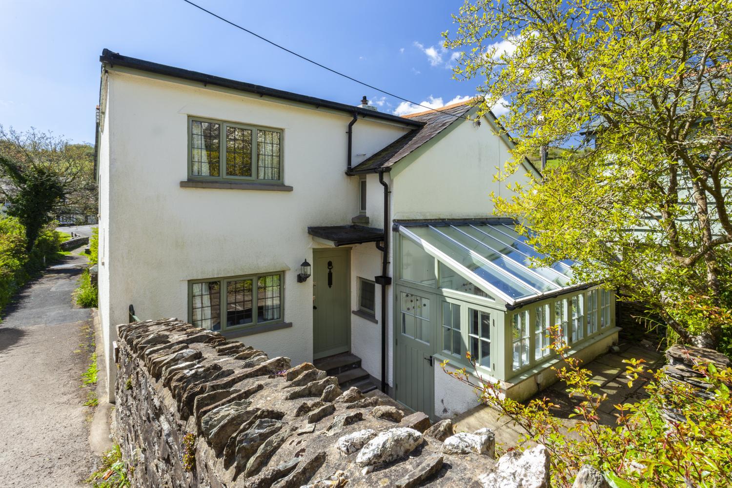
<instances>
[{"instance_id":1,"label":"leftmost sloping glass pane of the conservatory roof","mask_svg":"<svg viewBox=\"0 0 732 488\"><path fill-rule=\"evenodd\" d=\"M441 252L444 252L450 258L456 260L469 271L474 272L478 277L484 279L486 282L490 283L490 285L493 285L512 299L520 299L537 294L535 290L523 285L523 283L518 282L516 279L504 276L488 264L483 263L482 259L471 255L469 252L466 252L465 249L458 246L458 244L455 244L446 237L434 232L432 229L426 227L414 227L409 230L421 239L425 239L425 241L437 247ZM402 239L402 242L405 242L406 240L407 239Z\"/></svg>"}]
</instances>

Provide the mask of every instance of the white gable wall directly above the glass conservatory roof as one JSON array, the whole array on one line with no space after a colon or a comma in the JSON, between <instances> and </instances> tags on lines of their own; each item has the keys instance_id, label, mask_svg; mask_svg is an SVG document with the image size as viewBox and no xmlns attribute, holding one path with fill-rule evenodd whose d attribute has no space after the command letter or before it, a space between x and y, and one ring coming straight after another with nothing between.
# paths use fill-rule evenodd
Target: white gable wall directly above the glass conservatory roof
<instances>
[{"instance_id":1,"label":"white gable wall directly above the glass conservatory roof","mask_svg":"<svg viewBox=\"0 0 732 488\"><path fill-rule=\"evenodd\" d=\"M479 127L471 121L455 124L458 127L417 159L403 160L392 169L395 219L490 217L490 192L509 197L507 185L526 181L523 169L507 181L493 181L511 156L487 119Z\"/></svg>"}]
</instances>

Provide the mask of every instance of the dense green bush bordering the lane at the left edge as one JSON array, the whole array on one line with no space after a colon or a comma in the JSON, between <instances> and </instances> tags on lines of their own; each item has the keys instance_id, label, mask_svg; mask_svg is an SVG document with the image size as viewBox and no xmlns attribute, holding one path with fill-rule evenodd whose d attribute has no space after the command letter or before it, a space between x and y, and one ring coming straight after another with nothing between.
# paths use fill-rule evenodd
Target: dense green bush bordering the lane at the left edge
<instances>
[{"instance_id":1,"label":"dense green bush bordering the lane at the left edge","mask_svg":"<svg viewBox=\"0 0 732 488\"><path fill-rule=\"evenodd\" d=\"M15 217L0 218L0 309L48 262L59 258L61 238L52 224L42 230L30 253L26 252L25 234Z\"/></svg>"}]
</instances>

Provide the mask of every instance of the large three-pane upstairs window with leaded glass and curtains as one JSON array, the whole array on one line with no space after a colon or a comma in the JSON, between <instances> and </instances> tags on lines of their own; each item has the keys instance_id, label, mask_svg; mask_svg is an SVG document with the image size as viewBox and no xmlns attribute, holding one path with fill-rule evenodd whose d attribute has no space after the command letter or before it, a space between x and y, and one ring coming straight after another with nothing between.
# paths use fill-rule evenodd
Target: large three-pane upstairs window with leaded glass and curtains
<instances>
[{"instance_id":1,"label":"large three-pane upstairs window with leaded glass and curtains","mask_svg":"<svg viewBox=\"0 0 732 488\"><path fill-rule=\"evenodd\" d=\"M282 181L282 131L189 119L188 175L195 179Z\"/></svg>"}]
</instances>

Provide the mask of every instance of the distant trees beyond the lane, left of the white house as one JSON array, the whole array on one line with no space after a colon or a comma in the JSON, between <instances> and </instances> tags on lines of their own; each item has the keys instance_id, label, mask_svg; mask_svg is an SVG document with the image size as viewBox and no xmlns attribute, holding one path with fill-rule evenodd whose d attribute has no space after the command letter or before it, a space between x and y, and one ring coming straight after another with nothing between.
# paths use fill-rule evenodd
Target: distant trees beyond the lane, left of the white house
<instances>
[{"instance_id":1,"label":"distant trees beyond the lane, left of the white house","mask_svg":"<svg viewBox=\"0 0 732 488\"><path fill-rule=\"evenodd\" d=\"M89 213L94 203L93 150L84 144L30 130L6 132L0 126L0 170L7 214L26 229L26 250L59 211Z\"/></svg>"}]
</instances>

